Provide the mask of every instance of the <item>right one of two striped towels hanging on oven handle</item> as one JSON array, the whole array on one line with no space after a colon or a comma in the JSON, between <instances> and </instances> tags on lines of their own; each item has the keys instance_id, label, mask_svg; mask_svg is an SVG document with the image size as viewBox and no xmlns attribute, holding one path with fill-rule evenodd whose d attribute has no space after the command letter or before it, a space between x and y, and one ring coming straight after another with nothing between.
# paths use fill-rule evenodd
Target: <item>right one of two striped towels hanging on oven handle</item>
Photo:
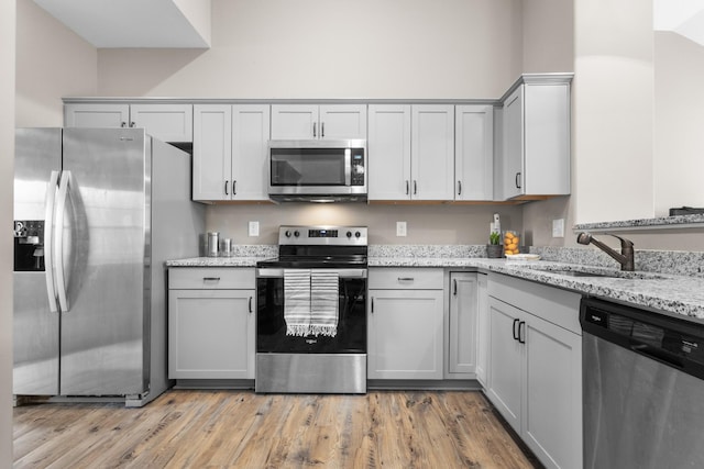
<instances>
[{"instance_id":1,"label":"right one of two striped towels hanging on oven handle","mask_svg":"<svg viewBox=\"0 0 704 469\"><path fill-rule=\"evenodd\" d=\"M309 334L334 337L338 334L339 276L330 270L310 272Z\"/></svg>"}]
</instances>

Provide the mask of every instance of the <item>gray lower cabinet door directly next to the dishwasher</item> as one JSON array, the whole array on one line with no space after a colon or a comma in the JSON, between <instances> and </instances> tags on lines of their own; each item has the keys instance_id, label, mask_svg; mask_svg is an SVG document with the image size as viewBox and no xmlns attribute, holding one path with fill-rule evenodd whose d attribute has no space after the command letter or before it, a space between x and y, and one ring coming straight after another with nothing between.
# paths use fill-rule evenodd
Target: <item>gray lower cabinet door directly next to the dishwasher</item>
<instances>
[{"instance_id":1,"label":"gray lower cabinet door directly next to the dishwasher","mask_svg":"<svg viewBox=\"0 0 704 469\"><path fill-rule=\"evenodd\" d=\"M581 467L582 337L527 317L522 438L548 468Z\"/></svg>"}]
</instances>

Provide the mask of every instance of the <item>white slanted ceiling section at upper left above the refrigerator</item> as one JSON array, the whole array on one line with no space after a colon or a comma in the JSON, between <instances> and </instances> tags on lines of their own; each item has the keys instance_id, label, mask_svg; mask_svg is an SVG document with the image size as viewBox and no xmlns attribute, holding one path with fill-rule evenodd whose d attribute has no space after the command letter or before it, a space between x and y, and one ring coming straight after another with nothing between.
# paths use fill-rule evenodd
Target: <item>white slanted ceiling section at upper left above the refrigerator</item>
<instances>
[{"instance_id":1,"label":"white slanted ceiling section at upper left above the refrigerator","mask_svg":"<svg viewBox=\"0 0 704 469\"><path fill-rule=\"evenodd\" d=\"M97 48L208 48L175 0L34 0Z\"/></svg>"}]
</instances>

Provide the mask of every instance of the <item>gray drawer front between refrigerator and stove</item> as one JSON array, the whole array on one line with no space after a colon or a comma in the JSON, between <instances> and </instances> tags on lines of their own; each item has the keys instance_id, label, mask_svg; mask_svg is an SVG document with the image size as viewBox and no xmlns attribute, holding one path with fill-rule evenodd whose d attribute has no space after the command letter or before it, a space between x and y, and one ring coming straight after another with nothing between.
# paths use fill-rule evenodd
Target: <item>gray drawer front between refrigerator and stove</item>
<instances>
[{"instance_id":1,"label":"gray drawer front between refrigerator and stove","mask_svg":"<svg viewBox=\"0 0 704 469\"><path fill-rule=\"evenodd\" d=\"M253 289L254 287L254 269L250 268L183 267L168 269L168 288L170 290L232 290Z\"/></svg>"}]
</instances>

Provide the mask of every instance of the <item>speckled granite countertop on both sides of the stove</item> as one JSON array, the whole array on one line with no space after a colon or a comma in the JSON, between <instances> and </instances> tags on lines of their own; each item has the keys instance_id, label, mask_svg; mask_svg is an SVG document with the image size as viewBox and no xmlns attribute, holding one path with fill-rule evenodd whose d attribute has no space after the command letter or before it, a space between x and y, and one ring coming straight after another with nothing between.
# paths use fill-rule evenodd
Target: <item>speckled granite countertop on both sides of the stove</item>
<instances>
[{"instance_id":1,"label":"speckled granite countertop on both sides of the stove","mask_svg":"<svg viewBox=\"0 0 704 469\"><path fill-rule=\"evenodd\" d=\"M169 260L167 267L255 267L266 257L195 257ZM482 257L370 257L370 267L468 268L505 273L551 287L659 312L704 321L704 278L546 260L506 260ZM580 270L617 277L570 277L558 270Z\"/></svg>"}]
</instances>

